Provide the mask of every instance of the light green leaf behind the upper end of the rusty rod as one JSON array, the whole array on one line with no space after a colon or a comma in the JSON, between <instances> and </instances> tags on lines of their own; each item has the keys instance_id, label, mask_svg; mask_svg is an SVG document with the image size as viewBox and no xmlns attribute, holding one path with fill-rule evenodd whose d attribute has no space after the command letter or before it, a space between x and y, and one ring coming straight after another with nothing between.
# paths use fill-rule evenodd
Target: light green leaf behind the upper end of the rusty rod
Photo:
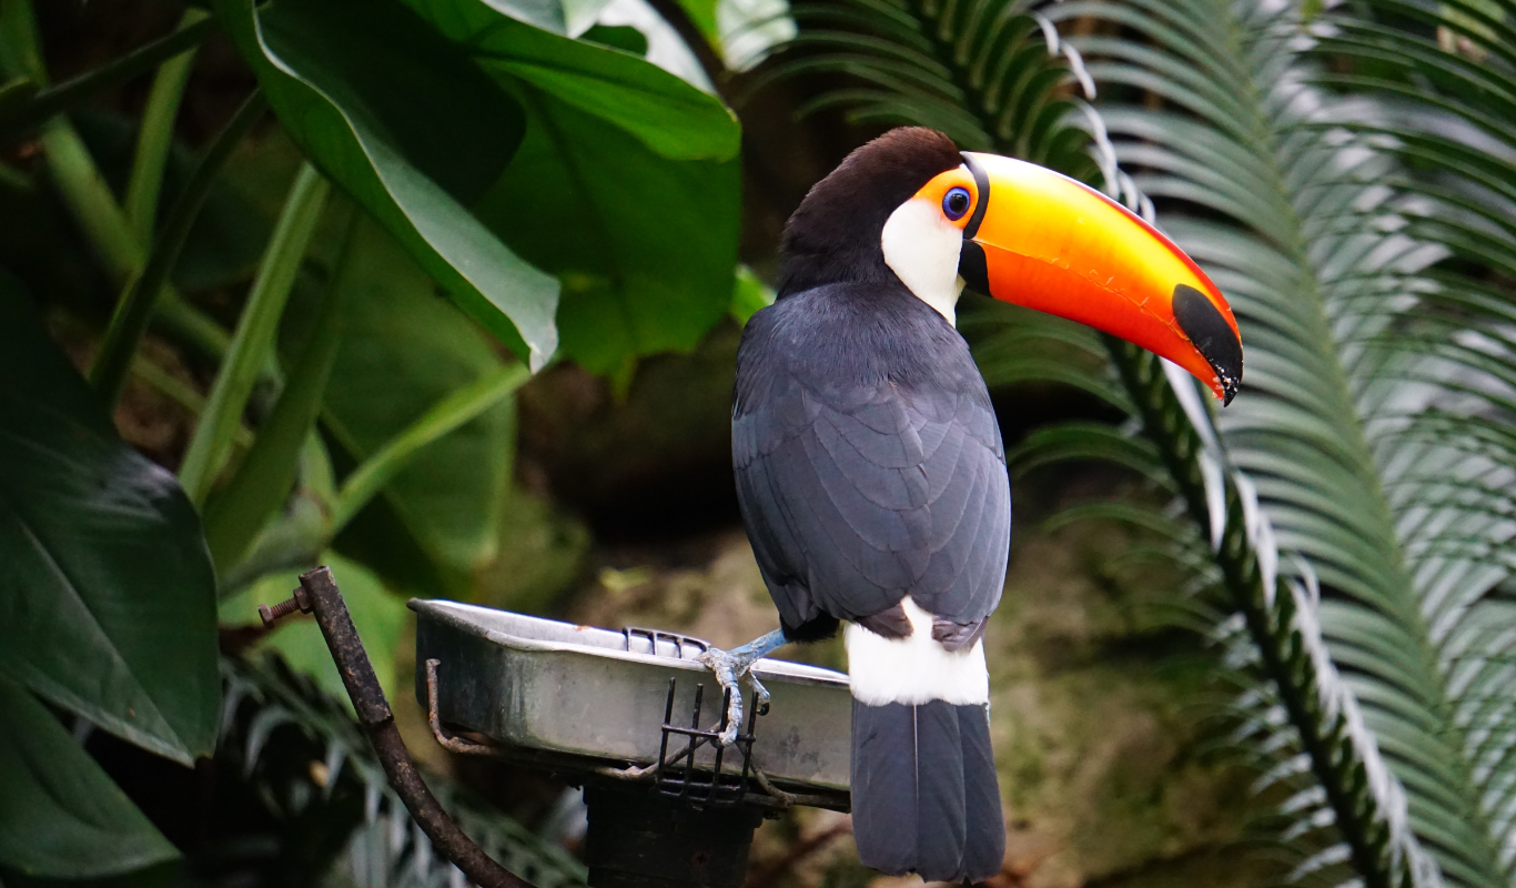
<instances>
[{"instance_id":1,"label":"light green leaf behind the upper end of the rusty rod","mask_svg":"<svg viewBox=\"0 0 1516 888\"><path fill-rule=\"evenodd\" d=\"M384 582L356 561L349 561L335 552L323 555L321 561L332 568L332 577L343 591L347 612L352 614L358 636L379 676L379 686L393 700L399 689L396 652L405 629L405 599L385 589ZM221 621L232 626L256 624L258 605L277 605L288 599L290 591L300 585L300 573L267 576L241 593L223 599ZM287 617L258 643L258 647L277 650L291 668L315 676L327 694L349 700L343 677L337 673L337 662L332 661L332 652L326 647L315 620Z\"/></svg>"}]
</instances>

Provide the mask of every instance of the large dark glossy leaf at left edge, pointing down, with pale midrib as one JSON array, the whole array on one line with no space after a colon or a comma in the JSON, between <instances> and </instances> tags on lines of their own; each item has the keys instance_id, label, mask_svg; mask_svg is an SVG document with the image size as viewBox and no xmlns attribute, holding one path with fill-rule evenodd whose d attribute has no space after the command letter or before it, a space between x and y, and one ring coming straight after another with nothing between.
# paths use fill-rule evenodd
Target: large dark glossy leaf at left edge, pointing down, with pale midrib
<instances>
[{"instance_id":1,"label":"large dark glossy leaf at left edge, pointing down, with pale midrib","mask_svg":"<svg viewBox=\"0 0 1516 888\"><path fill-rule=\"evenodd\" d=\"M215 576L164 468L117 438L0 273L0 671L191 762L221 700Z\"/></svg>"}]
</instances>

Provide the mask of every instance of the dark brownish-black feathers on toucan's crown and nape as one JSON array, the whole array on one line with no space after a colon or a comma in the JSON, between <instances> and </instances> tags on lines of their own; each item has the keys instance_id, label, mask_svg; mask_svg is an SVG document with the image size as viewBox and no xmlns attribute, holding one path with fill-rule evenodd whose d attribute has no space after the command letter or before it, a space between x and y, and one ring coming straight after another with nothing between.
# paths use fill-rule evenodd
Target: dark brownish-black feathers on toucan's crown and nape
<instances>
[{"instance_id":1,"label":"dark brownish-black feathers on toucan's crown and nape","mask_svg":"<svg viewBox=\"0 0 1516 888\"><path fill-rule=\"evenodd\" d=\"M890 277L879 249L884 223L934 176L960 164L952 139L919 126L893 129L854 150L785 223L779 297Z\"/></svg>"}]
</instances>

